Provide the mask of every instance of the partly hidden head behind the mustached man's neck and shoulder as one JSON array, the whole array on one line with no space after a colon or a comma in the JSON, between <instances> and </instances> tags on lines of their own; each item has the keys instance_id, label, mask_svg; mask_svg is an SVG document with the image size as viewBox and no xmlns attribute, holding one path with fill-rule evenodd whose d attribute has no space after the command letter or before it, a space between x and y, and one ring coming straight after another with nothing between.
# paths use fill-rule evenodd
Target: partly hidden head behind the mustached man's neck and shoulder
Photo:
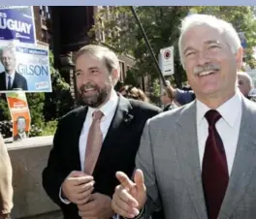
<instances>
[{"instance_id":1,"label":"partly hidden head behind the mustached man's neck and shoulder","mask_svg":"<svg viewBox=\"0 0 256 219\"><path fill-rule=\"evenodd\" d=\"M252 78L245 72L238 72L238 85L243 96L249 99L249 92L253 88Z\"/></svg>"}]
</instances>

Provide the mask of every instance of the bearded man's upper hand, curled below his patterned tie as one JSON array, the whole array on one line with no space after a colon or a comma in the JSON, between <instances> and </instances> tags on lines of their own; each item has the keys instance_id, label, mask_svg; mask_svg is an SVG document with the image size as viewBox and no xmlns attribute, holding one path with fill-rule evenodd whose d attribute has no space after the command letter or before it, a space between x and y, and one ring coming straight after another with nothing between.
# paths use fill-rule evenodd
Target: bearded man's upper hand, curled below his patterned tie
<instances>
[{"instance_id":1,"label":"bearded man's upper hand, curled below his patterned tie","mask_svg":"<svg viewBox=\"0 0 256 219\"><path fill-rule=\"evenodd\" d=\"M61 185L63 198L72 203L86 203L94 189L94 183L91 175L84 172L71 172Z\"/></svg>"}]
</instances>

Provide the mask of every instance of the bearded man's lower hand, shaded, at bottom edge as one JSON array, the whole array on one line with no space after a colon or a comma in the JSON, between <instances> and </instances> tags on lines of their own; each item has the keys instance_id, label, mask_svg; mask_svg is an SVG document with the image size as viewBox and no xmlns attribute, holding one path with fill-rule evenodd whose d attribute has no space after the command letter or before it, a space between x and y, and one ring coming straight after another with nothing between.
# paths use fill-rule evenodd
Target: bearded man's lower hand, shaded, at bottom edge
<instances>
[{"instance_id":1,"label":"bearded man's lower hand, shaded, at bottom edge","mask_svg":"<svg viewBox=\"0 0 256 219\"><path fill-rule=\"evenodd\" d=\"M92 194L88 203L78 206L82 219L110 219L114 214L112 199L100 193Z\"/></svg>"}]
</instances>

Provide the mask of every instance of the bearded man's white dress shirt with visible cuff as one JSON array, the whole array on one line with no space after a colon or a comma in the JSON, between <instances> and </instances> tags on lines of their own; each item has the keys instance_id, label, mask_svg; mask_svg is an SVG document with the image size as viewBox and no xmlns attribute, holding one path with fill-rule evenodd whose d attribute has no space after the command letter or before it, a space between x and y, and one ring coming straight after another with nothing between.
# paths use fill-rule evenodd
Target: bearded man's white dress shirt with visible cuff
<instances>
[{"instance_id":1,"label":"bearded man's white dress shirt with visible cuff","mask_svg":"<svg viewBox=\"0 0 256 219\"><path fill-rule=\"evenodd\" d=\"M100 109L94 109L94 108L88 108L88 111L86 113L86 118L83 122L83 126L80 132L80 168L81 172L84 171L84 162L85 162L85 150L86 150L86 142L87 142L87 137L88 137L88 132L90 125L92 123L92 114L95 110L101 110L104 114L104 116L101 119L101 131L103 134L103 140L105 139L108 130L110 128L110 125L112 123L112 118L114 115L114 111L117 107L118 103L118 96L116 92L112 89L111 97L110 100L102 106ZM66 199L63 199L61 197L61 188L59 191L59 198L62 203L69 204L70 202Z\"/></svg>"}]
</instances>

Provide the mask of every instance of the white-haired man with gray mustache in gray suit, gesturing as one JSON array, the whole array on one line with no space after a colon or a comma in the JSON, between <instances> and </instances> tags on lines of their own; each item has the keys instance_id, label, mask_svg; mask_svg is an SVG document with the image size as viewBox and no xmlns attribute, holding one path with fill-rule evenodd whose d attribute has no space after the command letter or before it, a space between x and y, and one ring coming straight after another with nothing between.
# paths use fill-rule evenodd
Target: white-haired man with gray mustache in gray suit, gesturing
<instances>
[{"instance_id":1,"label":"white-haired man with gray mustache in gray suit, gesturing","mask_svg":"<svg viewBox=\"0 0 256 219\"><path fill-rule=\"evenodd\" d=\"M126 218L162 208L166 219L254 219L256 105L237 86L238 33L215 16L187 16L178 49L196 100L146 122L134 181L116 172L112 208Z\"/></svg>"}]
</instances>

